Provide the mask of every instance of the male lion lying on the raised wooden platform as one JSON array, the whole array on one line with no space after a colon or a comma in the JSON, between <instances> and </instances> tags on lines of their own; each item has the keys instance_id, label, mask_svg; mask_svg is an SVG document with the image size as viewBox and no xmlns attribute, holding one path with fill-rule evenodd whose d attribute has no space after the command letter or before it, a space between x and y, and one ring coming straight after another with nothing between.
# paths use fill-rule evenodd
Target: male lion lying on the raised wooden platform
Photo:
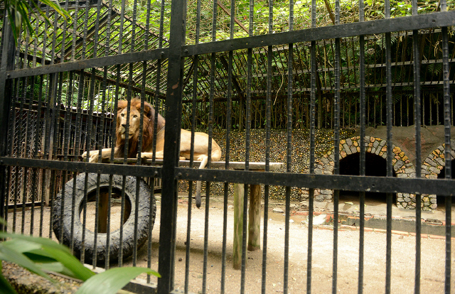
<instances>
[{"instance_id":1,"label":"male lion lying on the raised wooden platform","mask_svg":"<svg viewBox=\"0 0 455 294\"><path fill-rule=\"evenodd\" d=\"M115 133L117 142L114 148L114 157L124 157L125 131L127 127L128 102L121 100L117 108L117 127ZM129 111L129 134L128 134L128 158L137 157L137 144L139 142L139 121L141 116L141 100L132 99ZM144 102L144 125L142 126L142 152L141 158L151 159L153 156L154 138L154 119L155 109L147 102ZM164 125L166 121L161 114L158 114L158 126L156 134L156 158L163 159L164 154ZM199 168L205 168L208 161L208 135L196 132L194 138L194 159L200 161ZM191 131L181 129L180 135L180 159L190 159L191 151ZM96 163L99 151L90 151L90 163ZM102 158L109 158L111 148L101 150ZM212 160L218 161L221 158L220 146L212 139ZM87 152L82 154L82 158L87 157ZM196 185L196 206L200 207L200 181Z\"/></svg>"}]
</instances>

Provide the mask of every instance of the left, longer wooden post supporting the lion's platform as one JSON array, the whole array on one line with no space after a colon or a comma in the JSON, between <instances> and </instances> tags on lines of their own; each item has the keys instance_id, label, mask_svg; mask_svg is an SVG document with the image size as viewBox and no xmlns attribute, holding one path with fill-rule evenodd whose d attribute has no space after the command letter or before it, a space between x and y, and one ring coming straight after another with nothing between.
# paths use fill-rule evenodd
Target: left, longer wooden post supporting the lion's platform
<instances>
[{"instance_id":1,"label":"left, longer wooden post supporting the lion's platform","mask_svg":"<svg viewBox=\"0 0 455 294\"><path fill-rule=\"evenodd\" d=\"M245 185L234 184L234 244L232 246L232 266L242 267L243 201Z\"/></svg>"}]
</instances>

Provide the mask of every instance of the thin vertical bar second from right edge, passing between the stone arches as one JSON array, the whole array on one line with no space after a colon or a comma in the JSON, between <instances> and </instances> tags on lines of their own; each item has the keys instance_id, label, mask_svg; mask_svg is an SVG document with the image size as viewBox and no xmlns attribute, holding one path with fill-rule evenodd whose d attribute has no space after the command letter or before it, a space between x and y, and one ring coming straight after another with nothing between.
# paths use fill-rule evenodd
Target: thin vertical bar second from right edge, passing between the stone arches
<instances>
[{"instance_id":1,"label":"thin vertical bar second from right edge, passing between the stone arches","mask_svg":"<svg viewBox=\"0 0 455 294\"><path fill-rule=\"evenodd\" d=\"M412 1L412 15L417 16L417 0ZM414 63L414 127L415 127L415 178L422 176L422 146L421 146L421 102L420 102L420 48L419 31L412 31L412 55ZM422 232L422 195L416 193L415 209L415 272L414 272L414 293L420 293L420 262L421 262L421 232Z\"/></svg>"}]
</instances>

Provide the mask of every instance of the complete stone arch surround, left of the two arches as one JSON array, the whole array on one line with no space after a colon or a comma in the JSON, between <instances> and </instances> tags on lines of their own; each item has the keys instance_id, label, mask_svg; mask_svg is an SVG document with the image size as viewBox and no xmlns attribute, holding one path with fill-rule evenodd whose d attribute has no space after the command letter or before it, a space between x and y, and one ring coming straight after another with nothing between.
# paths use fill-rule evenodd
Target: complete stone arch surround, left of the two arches
<instances>
[{"instance_id":1,"label":"complete stone arch surround, left of the two arches","mask_svg":"<svg viewBox=\"0 0 455 294\"><path fill-rule=\"evenodd\" d=\"M376 138L373 136L365 136L366 152L373 153L382 158L387 157L387 141L382 138ZM319 175L333 175L334 164L334 153L332 148L330 151L325 153L321 158L316 159L315 173ZM345 158L353 153L360 153L360 137L356 136L353 138L347 138L346 140L340 141L340 158ZM395 154L392 158L392 165L397 178L413 178L415 177L415 169L411 163L411 160L407 158L405 152L400 147L392 145L392 153ZM333 190L319 190L316 193L316 200L332 200ZM414 203L415 197L409 193L397 193L397 205L402 207L408 207ZM412 207L408 207L412 208Z\"/></svg>"}]
</instances>

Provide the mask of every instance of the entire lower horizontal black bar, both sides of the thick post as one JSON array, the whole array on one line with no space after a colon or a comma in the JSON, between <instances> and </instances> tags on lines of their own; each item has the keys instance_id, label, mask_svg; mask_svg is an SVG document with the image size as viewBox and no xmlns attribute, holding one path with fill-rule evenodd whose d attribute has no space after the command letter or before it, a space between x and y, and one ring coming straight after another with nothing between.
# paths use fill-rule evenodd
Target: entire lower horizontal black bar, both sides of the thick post
<instances>
[{"instance_id":1,"label":"entire lower horizontal black bar, both sides of the thick post","mask_svg":"<svg viewBox=\"0 0 455 294\"><path fill-rule=\"evenodd\" d=\"M82 163L74 161L41 160L0 157L0 165L68 170L77 173L102 173L161 178L161 167L147 165L119 165ZM403 192L455 196L455 180L362 177L355 175L310 175L301 173L271 173L245 170L199 170L176 168L178 180L203 180L250 185L277 185L331 190L365 192Z\"/></svg>"}]
</instances>

